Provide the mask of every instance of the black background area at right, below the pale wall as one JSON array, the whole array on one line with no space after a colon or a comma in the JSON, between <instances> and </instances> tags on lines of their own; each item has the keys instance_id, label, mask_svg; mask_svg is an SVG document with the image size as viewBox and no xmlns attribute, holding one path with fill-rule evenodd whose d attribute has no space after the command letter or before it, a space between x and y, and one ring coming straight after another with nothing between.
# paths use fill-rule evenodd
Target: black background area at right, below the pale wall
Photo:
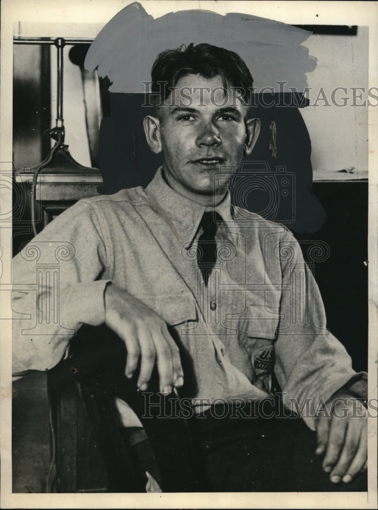
<instances>
[{"instance_id":1,"label":"black background area at right, below the pale wall","mask_svg":"<svg viewBox=\"0 0 378 510\"><path fill-rule=\"evenodd\" d=\"M368 340L368 183L316 182L314 195L326 220L313 234L294 233L297 240L326 242L327 260L315 265L327 327L344 344L355 370L367 370Z\"/></svg>"}]
</instances>

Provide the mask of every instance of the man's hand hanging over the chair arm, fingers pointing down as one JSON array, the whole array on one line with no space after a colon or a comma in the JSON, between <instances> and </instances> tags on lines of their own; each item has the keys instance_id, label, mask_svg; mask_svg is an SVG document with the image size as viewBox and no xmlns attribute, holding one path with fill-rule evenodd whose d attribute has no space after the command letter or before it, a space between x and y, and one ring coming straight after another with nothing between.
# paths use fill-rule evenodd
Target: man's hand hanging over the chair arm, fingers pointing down
<instances>
[{"instance_id":1,"label":"man's hand hanging over the chair arm, fingers pointing down","mask_svg":"<svg viewBox=\"0 0 378 510\"><path fill-rule=\"evenodd\" d=\"M141 357L138 388L146 391L157 363L160 391L172 392L184 384L179 348L165 321L136 297L109 284L105 290L105 323L125 343L125 375L131 378Z\"/></svg>"}]
</instances>

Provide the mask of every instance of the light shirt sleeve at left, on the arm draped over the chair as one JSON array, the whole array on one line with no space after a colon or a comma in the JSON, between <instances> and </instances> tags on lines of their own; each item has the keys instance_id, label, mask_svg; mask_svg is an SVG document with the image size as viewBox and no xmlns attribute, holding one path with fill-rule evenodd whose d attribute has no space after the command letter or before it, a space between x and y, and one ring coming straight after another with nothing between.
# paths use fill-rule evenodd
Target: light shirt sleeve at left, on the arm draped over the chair
<instances>
[{"instance_id":1,"label":"light shirt sleeve at left, on the arm draped over the chair","mask_svg":"<svg viewBox=\"0 0 378 510\"><path fill-rule=\"evenodd\" d=\"M54 367L82 324L104 322L102 239L95 211L80 201L14 257L13 375Z\"/></svg>"}]
</instances>

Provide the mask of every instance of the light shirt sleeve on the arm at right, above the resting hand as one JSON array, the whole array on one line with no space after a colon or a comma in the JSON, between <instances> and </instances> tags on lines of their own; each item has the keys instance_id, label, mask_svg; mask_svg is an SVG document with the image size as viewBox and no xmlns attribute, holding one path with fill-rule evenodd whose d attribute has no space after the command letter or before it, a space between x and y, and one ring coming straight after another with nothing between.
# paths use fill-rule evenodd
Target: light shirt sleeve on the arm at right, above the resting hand
<instances>
[{"instance_id":1,"label":"light shirt sleeve on the arm at right, above the resting hand","mask_svg":"<svg viewBox=\"0 0 378 510\"><path fill-rule=\"evenodd\" d=\"M314 415L341 387L366 393L366 373L356 374L344 346L326 328L323 302L295 238L286 233L281 249L282 299L274 372L290 409L301 410L314 429ZM358 385L356 386L358 382Z\"/></svg>"}]
</instances>

